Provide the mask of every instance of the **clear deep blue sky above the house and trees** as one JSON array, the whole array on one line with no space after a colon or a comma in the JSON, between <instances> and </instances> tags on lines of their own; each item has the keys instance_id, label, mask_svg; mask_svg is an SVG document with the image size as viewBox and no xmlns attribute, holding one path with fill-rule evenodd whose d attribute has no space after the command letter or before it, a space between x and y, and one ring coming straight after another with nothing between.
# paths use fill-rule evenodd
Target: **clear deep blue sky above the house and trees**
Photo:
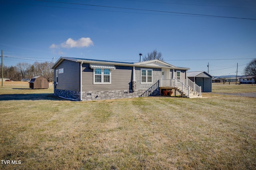
<instances>
[{"instance_id":1,"label":"clear deep blue sky above the house and trees","mask_svg":"<svg viewBox=\"0 0 256 170\"><path fill-rule=\"evenodd\" d=\"M206 72L209 63L222 76L237 63L242 75L256 58L255 0L0 0L0 19L6 66L60 56L138 62L156 49L167 63Z\"/></svg>"}]
</instances>

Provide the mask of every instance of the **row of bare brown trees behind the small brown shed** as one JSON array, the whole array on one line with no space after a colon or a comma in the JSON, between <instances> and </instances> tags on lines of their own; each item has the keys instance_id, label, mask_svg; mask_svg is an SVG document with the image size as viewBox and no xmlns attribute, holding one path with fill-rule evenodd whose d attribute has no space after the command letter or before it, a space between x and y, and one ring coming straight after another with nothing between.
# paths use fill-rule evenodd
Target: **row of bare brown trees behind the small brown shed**
<instances>
[{"instance_id":1,"label":"row of bare brown trees behind the small brown shed","mask_svg":"<svg viewBox=\"0 0 256 170\"><path fill-rule=\"evenodd\" d=\"M36 76L45 77L48 82L53 81L53 69L52 62L39 63L35 62L34 64L29 63L18 63L16 66L3 66L3 77L10 78L13 81L21 81L22 78L33 78ZM0 66L1 68L1 66ZM2 68L0 69L0 75L2 75Z\"/></svg>"}]
</instances>

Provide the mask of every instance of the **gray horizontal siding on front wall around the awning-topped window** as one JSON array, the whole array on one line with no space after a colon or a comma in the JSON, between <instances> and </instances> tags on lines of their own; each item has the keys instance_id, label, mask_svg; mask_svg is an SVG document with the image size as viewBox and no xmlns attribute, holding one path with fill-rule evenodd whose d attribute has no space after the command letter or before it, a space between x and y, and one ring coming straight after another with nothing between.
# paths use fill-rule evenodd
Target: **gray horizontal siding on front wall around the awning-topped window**
<instances>
[{"instance_id":1,"label":"gray horizontal siding on front wall around the awning-topped window","mask_svg":"<svg viewBox=\"0 0 256 170\"><path fill-rule=\"evenodd\" d=\"M82 91L131 90L132 67L116 66L111 70L111 84L93 84L93 69L90 64L82 65Z\"/></svg>"}]
</instances>

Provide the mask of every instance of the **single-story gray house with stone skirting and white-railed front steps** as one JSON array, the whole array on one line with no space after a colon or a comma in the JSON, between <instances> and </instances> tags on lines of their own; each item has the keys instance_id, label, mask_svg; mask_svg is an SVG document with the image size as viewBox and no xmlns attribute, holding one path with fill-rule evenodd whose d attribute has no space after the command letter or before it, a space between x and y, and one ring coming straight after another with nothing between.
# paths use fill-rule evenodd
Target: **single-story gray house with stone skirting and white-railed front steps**
<instances>
[{"instance_id":1,"label":"single-story gray house with stone skirting and white-railed front steps","mask_svg":"<svg viewBox=\"0 0 256 170\"><path fill-rule=\"evenodd\" d=\"M60 57L52 69L54 95L72 100L158 96L163 90L177 90L187 98L201 97L200 87L187 78L190 68L160 60L126 63Z\"/></svg>"}]
</instances>

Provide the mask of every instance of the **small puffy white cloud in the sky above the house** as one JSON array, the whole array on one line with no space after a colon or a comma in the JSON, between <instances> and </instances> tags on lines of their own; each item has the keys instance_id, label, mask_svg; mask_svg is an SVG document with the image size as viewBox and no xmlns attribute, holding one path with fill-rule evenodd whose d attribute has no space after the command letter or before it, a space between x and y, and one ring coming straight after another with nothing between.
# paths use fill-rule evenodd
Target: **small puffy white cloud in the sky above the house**
<instances>
[{"instance_id":1,"label":"small puffy white cloud in the sky above the house","mask_svg":"<svg viewBox=\"0 0 256 170\"><path fill-rule=\"evenodd\" d=\"M82 48L82 47L89 47L93 45L93 42L90 38L80 38L78 40L73 40L72 38L67 39L67 41L61 43L60 45L52 44L50 49L57 49L57 48Z\"/></svg>"}]
</instances>

